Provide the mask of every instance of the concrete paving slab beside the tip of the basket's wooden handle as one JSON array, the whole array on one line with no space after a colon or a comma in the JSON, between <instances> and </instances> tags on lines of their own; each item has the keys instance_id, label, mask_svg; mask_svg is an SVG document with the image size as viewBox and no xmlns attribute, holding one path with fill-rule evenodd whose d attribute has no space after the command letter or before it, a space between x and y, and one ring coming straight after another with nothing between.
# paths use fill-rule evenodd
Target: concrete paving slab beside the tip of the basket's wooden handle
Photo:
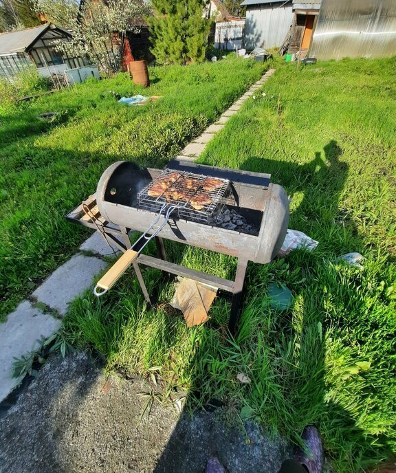
<instances>
[{"instance_id":1,"label":"concrete paving slab beside the tip of the basket's wooden handle","mask_svg":"<svg viewBox=\"0 0 396 473\"><path fill-rule=\"evenodd\" d=\"M94 276L105 267L107 263L101 259L75 254L58 267L32 295L39 302L65 315L68 303L88 289Z\"/></svg>"}]
</instances>

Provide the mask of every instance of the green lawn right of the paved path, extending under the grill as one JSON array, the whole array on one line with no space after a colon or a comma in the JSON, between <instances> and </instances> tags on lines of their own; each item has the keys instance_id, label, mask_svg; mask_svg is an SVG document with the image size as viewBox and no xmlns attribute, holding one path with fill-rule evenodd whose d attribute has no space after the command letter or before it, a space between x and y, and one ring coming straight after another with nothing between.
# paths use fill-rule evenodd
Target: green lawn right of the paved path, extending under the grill
<instances>
[{"instance_id":1,"label":"green lawn right of the paved path, extending under the grill","mask_svg":"<svg viewBox=\"0 0 396 473\"><path fill-rule=\"evenodd\" d=\"M87 292L74 303L69 340L96 349L109 369L188 389L190 408L217 398L233 419L295 441L315 423L334 471L362 471L394 452L395 72L395 59L280 66L265 97L258 91L206 148L204 164L272 173L292 197L289 228L320 242L312 253L249 265L236 339L223 300L206 325L187 329L166 305L148 309L137 281L124 277L105 298ZM234 276L232 258L166 249L171 261ZM337 260L351 251L364 255L364 270ZM144 279L160 300L172 295L159 272ZM286 313L270 308L271 281L294 294Z\"/></svg>"}]
</instances>

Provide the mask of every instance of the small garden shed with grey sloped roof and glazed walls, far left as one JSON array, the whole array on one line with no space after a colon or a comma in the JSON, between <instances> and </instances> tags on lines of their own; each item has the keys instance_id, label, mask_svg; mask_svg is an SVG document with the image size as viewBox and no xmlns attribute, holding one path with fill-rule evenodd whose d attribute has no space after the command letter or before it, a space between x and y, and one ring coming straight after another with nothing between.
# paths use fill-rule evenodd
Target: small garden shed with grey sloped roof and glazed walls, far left
<instances>
[{"instance_id":1,"label":"small garden shed with grey sloped roof and glazed walls, far left","mask_svg":"<svg viewBox=\"0 0 396 473\"><path fill-rule=\"evenodd\" d=\"M53 23L0 34L0 77L12 80L15 74L26 67L36 67L42 76L64 74L67 70L78 70L75 82L81 82L80 69L90 67L81 57L69 57L56 51L56 43L69 41L72 34ZM97 68L96 68L97 70ZM84 74L83 74L84 75ZM96 74L94 73L94 76Z\"/></svg>"}]
</instances>

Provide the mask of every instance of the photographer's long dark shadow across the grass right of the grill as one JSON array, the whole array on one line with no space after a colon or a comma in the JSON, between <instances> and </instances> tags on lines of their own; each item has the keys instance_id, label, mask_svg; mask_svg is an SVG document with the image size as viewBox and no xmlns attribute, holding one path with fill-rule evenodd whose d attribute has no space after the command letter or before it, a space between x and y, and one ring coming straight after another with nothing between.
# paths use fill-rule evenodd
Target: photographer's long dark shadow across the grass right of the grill
<instances>
[{"instance_id":1,"label":"photographer's long dark shadow across the grass right of the grill","mask_svg":"<svg viewBox=\"0 0 396 473\"><path fill-rule=\"evenodd\" d=\"M364 242L359 244L359 235L353 223L347 219L347 216L338 208L340 194L347 181L349 166L340 161L342 149L337 142L332 140L324 147L324 156L316 152L311 162L298 165L291 162L279 162L261 157L252 157L241 165L241 169L260 173L272 173L272 181L284 186L292 197L303 192L303 199L294 206L292 221L294 225L298 221L305 222L305 228L310 228L313 234L318 236L322 234L324 228L330 228L334 223L339 223L340 234L329 236L325 242L325 253L329 257L334 253L345 251L344 245L349 241L363 248ZM203 163L205 164L205 163ZM321 223L324 222L324 228ZM293 225L291 225L294 228ZM318 226L322 228L318 229ZM347 227L347 232L352 236L346 243L342 238ZM334 241L332 241L334 238ZM357 248L351 248L356 251ZM329 379L326 360L326 353L329 350L331 340L326 340L328 324L332 323L326 317L327 306L329 305L329 294L325 294L328 289L331 292L331 283L336 279L336 270L334 267L327 267L325 270L320 267L321 262L315 255L304 251L296 251L288 258L291 267L300 268L306 278L311 278L307 283L298 283L291 281L294 300L294 308L287 314L277 314L270 305L262 305L263 320L257 322L252 316L249 307L254 298L265 298L261 294L261 289L257 289L256 283L260 280L260 275L264 275L265 270L259 265L250 265L248 270L248 289L245 298L245 307L241 317L242 331L252 325L252 331L263 333L263 339L267 344L267 353L261 351L259 347L261 338L253 335L249 342L253 347L248 347L243 342L243 336L237 334L236 338L229 338L220 324L215 320L210 320L206 325L206 331L217 331L221 333L224 346L231 347L227 349L214 351L211 336L201 338L199 348L195 357L190 362L190 370L197 373L192 382L192 389L186 399L186 411L190 412L200 406L201 408L211 409L213 406L225 406L232 417L242 420L243 409L248 408L251 412L251 419L259 419L265 428L265 432L270 432L273 421L274 426L278 427L281 434L291 438L296 444L300 441L299 435L303 428L309 424L318 426L322 432L325 453L328 459L333 459L334 466L340 472L353 472L357 468L367 467L380 462L384 452L391 452L387 445L386 437L383 434L368 435L357 423L355 414L342 406L338 401L329 397L329 391L334 387L338 380ZM283 270L281 262L274 263L274 271L277 265ZM329 271L329 273L328 273ZM282 277L282 276L281 276ZM274 278L277 276L274 274ZM322 278L322 281L321 281ZM287 281L279 281L288 283ZM250 283L250 285L249 285ZM327 284L329 287L327 287ZM347 293L348 287L341 288L340 292ZM264 289L265 292L265 289ZM213 309L212 309L213 311ZM250 320L252 316L252 320ZM249 329L248 329L249 330ZM267 332L267 337L265 333ZM219 345L217 346L217 348ZM239 351L249 353L249 362L244 360ZM262 367L272 359L274 369L265 372ZM234 399L227 398L227 389L232 386L232 380L222 379L221 369L216 370L218 364L232 364L239 360L239 366L234 366L234 375L238 372L249 374L252 378L252 387L245 388L233 387ZM364 362L363 362L364 363ZM348 369L342 371L340 378L346 380L351 373L358 373L360 366L364 364L352 364ZM198 368L199 367L199 368ZM259 375L255 375L259 373ZM261 373L261 374L260 374ZM230 374L230 373L228 373ZM215 377L219 377L216 380ZM210 378L212 380L210 381ZM223 381L225 390L219 388L219 383ZM271 388L263 388L261 384L267 383ZM219 399L211 399L208 392L202 393L202 386L212 384L212 392L220 393ZM221 393L223 396L221 396ZM228 393L230 395L230 393ZM276 397L281 397L281 400ZM272 397L272 401L270 400ZM351 393L353 397L353 393ZM272 409L278 406L283 412L278 415L272 415L265 407L270 400ZM355 399L342 399L343 404L353 405ZM239 407L236 407L239 406ZM243 408L241 410L241 408ZM362 409L365 408L362 406ZM246 411L245 411L246 412ZM271 456L263 459L262 456L255 455L255 448L259 443L249 438L246 434L248 455L245 450L239 450L242 464L241 470L236 469L234 463L235 451L219 437L216 428L203 426L203 428L212 428L212 432L201 432L201 438L197 438L196 432L186 427L186 416L184 412L179 424L173 431L166 450L157 463L155 469L159 472L186 471L188 468L188 459L190 456L201 456L201 469L205 466L202 450L206 458L213 454L218 454L220 460L229 471L243 472L273 472L278 471L280 464ZM243 423L243 422L242 422ZM241 425L241 424L240 424ZM245 424L248 426L249 423ZM228 432L230 433L230 432ZM225 437L227 433L225 432ZM370 437L370 436L369 436ZM197 445L199 443L199 445ZM376 445L377 444L377 445ZM224 448L226 447L226 448ZM228 447L228 450L227 450ZM285 451L286 453L286 451ZM284 457L285 458L285 457ZM279 460L276 459L277 461ZM191 471L195 472L192 468Z\"/></svg>"}]
</instances>

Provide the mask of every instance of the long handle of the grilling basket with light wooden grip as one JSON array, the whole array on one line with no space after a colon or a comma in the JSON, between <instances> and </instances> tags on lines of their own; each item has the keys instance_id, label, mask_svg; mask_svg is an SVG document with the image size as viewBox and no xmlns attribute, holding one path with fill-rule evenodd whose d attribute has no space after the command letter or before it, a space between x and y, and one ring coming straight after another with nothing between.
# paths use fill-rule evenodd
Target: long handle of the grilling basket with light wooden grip
<instances>
[{"instance_id":1,"label":"long handle of the grilling basket with light wooden grip","mask_svg":"<svg viewBox=\"0 0 396 473\"><path fill-rule=\"evenodd\" d=\"M170 214L172 214L173 210L175 210L175 206L169 206L169 208L166 209L166 214L164 217L164 221L161 223L161 225L157 225L162 212L165 210L167 206L163 206L161 209L161 212L159 213L158 217L153 221L151 226L140 236L140 239L135 241L135 243L129 248L129 250L126 250L126 252L120 257L118 261L116 261L113 266L107 271L102 278L100 278L100 281L96 284L94 287L94 294L96 297L103 296L103 294L106 294L113 285L120 279L122 274L126 272L126 270L131 266L133 261L139 256L140 252L142 252L143 248L148 244L149 241L151 241L154 236L156 236L162 228L168 223ZM139 250L135 251L134 248L138 248L137 244L142 241L144 241L144 244L140 247ZM98 289L101 289L100 291Z\"/></svg>"}]
</instances>

